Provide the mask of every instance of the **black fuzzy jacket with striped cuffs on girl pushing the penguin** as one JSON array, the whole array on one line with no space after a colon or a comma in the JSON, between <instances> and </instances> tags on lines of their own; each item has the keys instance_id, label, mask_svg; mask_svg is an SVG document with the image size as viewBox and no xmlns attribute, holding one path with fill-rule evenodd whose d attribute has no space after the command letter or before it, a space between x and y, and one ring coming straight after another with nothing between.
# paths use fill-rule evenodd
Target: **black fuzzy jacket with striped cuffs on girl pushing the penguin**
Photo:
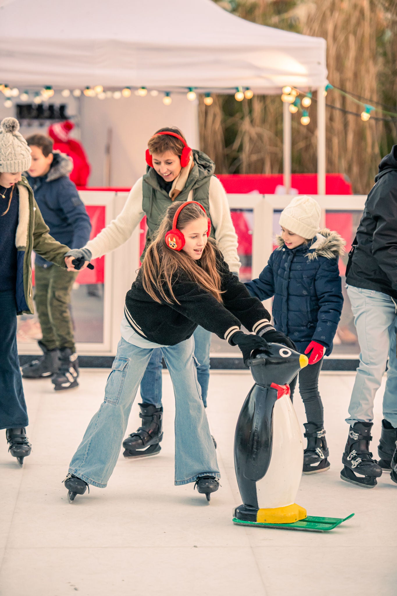
<instances>
[{"instance_id":1,"label":"black fuzzy jacket with striped cuffs on girl pushing the penguin","mask_svg":"<svg viewBox=\"0 0 397 596\"><path fill-rule=\"evenodd\" d=\"M133 330L150 342L175 346L189 339L198 325L228 342L240 330L241 324L254 333L269 325L270 314L260 300L251 297L245 285L230 273L217 249L215 254L221 290L224 290L221 294L223 303L179 270L172 280L172 287L180 304L170 305L158 294L159 304L143 289L142 272L139 271L127 292L124 308Z\"/></svg>"}]
</instances>

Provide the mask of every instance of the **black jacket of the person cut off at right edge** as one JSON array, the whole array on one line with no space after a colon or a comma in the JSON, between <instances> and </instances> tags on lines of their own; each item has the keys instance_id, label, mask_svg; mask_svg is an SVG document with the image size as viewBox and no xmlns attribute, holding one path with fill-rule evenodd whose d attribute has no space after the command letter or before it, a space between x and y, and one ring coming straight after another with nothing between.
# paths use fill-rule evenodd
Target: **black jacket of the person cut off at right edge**
<instances>
[{"instance_id":1,"label":"black jacket of the person cut off at right edge","mask_svg":"<svg viewBox=\"0 0 397 596\"><path fill-rule=\"evenodd\" d=\"M397 145L379 164L357 243L346 283L397 298Z\"/></svg>"}]
</instances>

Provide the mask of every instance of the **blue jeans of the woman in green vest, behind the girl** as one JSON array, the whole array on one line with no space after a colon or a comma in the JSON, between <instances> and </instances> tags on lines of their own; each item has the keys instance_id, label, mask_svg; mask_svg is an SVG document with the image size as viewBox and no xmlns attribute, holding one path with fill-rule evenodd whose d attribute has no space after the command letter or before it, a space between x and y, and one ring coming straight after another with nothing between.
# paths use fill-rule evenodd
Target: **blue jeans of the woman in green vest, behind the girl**
<instances>
[{"instance_id":1,"label":"blue jeans of the woman in green vest, behind the girl","mask_svg":"<svg viewBox=\"0 0 397 596\"><path fill-rule=\"evenodd\" d=\"M207 408L208 383L210 382L210 347L211 333L202 327L197 327L193 333L195 339L195 356L199 362L197 378L201 386L201 396L204 407ZM145 374L140 382L140 397L143 403L151 403L156 408L161 407L161 349L153 350Z\"/></svg>"}]
</instances>

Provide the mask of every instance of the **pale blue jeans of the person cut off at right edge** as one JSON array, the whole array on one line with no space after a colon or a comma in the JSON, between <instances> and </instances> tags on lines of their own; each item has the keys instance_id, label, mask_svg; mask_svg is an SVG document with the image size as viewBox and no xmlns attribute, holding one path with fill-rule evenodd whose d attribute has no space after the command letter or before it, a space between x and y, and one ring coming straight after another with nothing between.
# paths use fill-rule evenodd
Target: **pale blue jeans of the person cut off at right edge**
<instances>
[{"instance_id":1,"label":"pale blue jeans of the person cut off at right edge","mask_svg":"<svg viewBox=\"0 0 397 596\"><path fill-rule=\"evenodd\" d=\"M375 394L387 363L383 417L397 427L396 305L387 294L352 285L348 295L361 351L346 422L372 422Z\"/></svg>"}]
</instances>

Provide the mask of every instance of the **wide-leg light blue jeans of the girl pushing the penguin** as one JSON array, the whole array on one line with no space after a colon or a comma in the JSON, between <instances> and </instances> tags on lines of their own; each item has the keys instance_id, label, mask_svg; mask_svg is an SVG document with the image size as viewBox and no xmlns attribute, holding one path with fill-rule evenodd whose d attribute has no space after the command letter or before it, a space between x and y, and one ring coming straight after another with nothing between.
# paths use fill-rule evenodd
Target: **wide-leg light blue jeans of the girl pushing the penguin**
<instances>
[{"instance_id":1,"label":"wide-leg light blue jeans of the girl pushing the penguin","mask_svg":"<svg viewBox=\"0 0 397 596\"><path fill-rule=\"evenodd\" d=\"M73 455L70 474L105 488L120 454L131 406L152 352L153 349L134 346L121 338L104 402ZM193 337L176 346L161 347L161 352L175 395L175 484L195 482L198 476L220 478L197 380Z\"/></svg>"}]
</instances>

